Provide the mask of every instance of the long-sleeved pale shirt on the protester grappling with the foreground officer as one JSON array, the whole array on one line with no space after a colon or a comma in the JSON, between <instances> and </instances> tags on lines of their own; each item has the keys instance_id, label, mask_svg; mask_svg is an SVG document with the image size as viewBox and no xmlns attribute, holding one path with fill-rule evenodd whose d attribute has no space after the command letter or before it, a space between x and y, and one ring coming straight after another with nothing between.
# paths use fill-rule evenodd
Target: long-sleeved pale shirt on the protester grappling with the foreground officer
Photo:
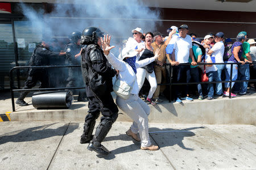
<instances>
[{"instance_id":1,"label":"long-sleeved pale shirt on the protester grappling with the foreground officer","mask_svg":"<svg viewBox=\"0 0 256 170\"><path fill-rule=\"evenodd\" d=\"M114 69L119 70L118 79L126 82L132 87L131 94L139 94L139 86L137 83L136 74L134 73L133 68L129 65L129 63L116 58L113 53L109 53L106 58L114 67ZM139 67L146 66L153 61L155 61L155 57L142 59L141 61L136 61L135 66L138 69Z\"/></svg>"}]
</instances>

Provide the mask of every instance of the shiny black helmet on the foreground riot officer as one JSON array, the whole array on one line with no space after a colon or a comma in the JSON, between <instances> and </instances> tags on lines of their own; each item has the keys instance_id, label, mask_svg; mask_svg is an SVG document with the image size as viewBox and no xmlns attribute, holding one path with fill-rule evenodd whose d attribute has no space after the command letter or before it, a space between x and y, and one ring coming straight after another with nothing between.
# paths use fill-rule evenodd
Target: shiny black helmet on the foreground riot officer
<instances>
[{"instance_id":1,"label":"shiny black helmet on the foreground riot officer","mask_svg":"<svg viewBox=\"0 0 256 170\"><path fill-rule=\"evenodd\" d=\"M82 45L89 45L89 44L97 44L98 37L103 37L104 32L101 32L100 29L96 27L88 27L82 31L81 36L81 44Z\"/></svg>"}]
</instances>

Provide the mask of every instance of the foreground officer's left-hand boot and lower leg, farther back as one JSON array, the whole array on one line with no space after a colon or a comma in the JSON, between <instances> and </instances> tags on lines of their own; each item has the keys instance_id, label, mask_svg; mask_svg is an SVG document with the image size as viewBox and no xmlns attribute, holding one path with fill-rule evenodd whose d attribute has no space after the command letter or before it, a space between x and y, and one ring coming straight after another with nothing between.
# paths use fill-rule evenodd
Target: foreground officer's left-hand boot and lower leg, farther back
<instances>
[{"instance_id":1,"label":"foreground officer's left-hand boot and lower leg, farther back","mask_svg":"<svg viewBox=\"0 0 256 170\"><path fill-rule=\"evenodd\" d=\"M84 131L81 135L81 139L80 139L80 143L89 143L92 139L93 139L93 129L94 126L96 124L96 120L92 121L92 122L85 122L84 123Z\"/></svg>"}]
</instances>

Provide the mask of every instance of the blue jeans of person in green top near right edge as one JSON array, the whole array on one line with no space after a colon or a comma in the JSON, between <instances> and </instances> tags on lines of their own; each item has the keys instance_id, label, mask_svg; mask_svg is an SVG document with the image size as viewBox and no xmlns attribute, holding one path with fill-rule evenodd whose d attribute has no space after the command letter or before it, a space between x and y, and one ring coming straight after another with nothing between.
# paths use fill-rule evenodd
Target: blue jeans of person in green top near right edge
<instances>
[{"instance_id":1,"label":"blue jeans of person in green top near right edge","mask_svg":"<svg viewBox=\"0 0 256 170\"><path fill-rule=\"evenodd\" d=\"M238 65L237 80L249 80L250 68L249 65ZM234 85L234 91L240 93L246 93L248 82L236 82Z\"/></svg>"}]
</instances>

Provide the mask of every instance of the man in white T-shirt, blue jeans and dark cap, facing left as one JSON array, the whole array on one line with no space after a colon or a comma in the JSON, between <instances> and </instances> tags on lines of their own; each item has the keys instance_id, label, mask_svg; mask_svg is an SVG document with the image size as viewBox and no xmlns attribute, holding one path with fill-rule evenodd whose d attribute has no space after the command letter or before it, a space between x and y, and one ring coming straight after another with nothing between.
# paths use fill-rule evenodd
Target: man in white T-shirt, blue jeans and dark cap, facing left
<instances>
[{"instance_id":1,"label":"man in white T-shirt, blue jeans and dark cap, facing left","mask_svg":"<svg viewBox=\"0 0 256 170\"><path fill-rule=\"evenodd\" d=\"M224 63L223 61L223 55L224 55L224 50L225 46L223 43L223 38L224 38L224 33L223 32L218 32L214 36L215 39L215 44L213 47L208 51L208 54L211 55L212 62L213 63ZM216 81L221 82L221 73L222 70L224 69L224 64L223 65L216 65L217 67L217 74L216 74ZM222 91L222 83L216 83L216 95L221 96L223 94Z\"/></svg>"}]
</instances>

